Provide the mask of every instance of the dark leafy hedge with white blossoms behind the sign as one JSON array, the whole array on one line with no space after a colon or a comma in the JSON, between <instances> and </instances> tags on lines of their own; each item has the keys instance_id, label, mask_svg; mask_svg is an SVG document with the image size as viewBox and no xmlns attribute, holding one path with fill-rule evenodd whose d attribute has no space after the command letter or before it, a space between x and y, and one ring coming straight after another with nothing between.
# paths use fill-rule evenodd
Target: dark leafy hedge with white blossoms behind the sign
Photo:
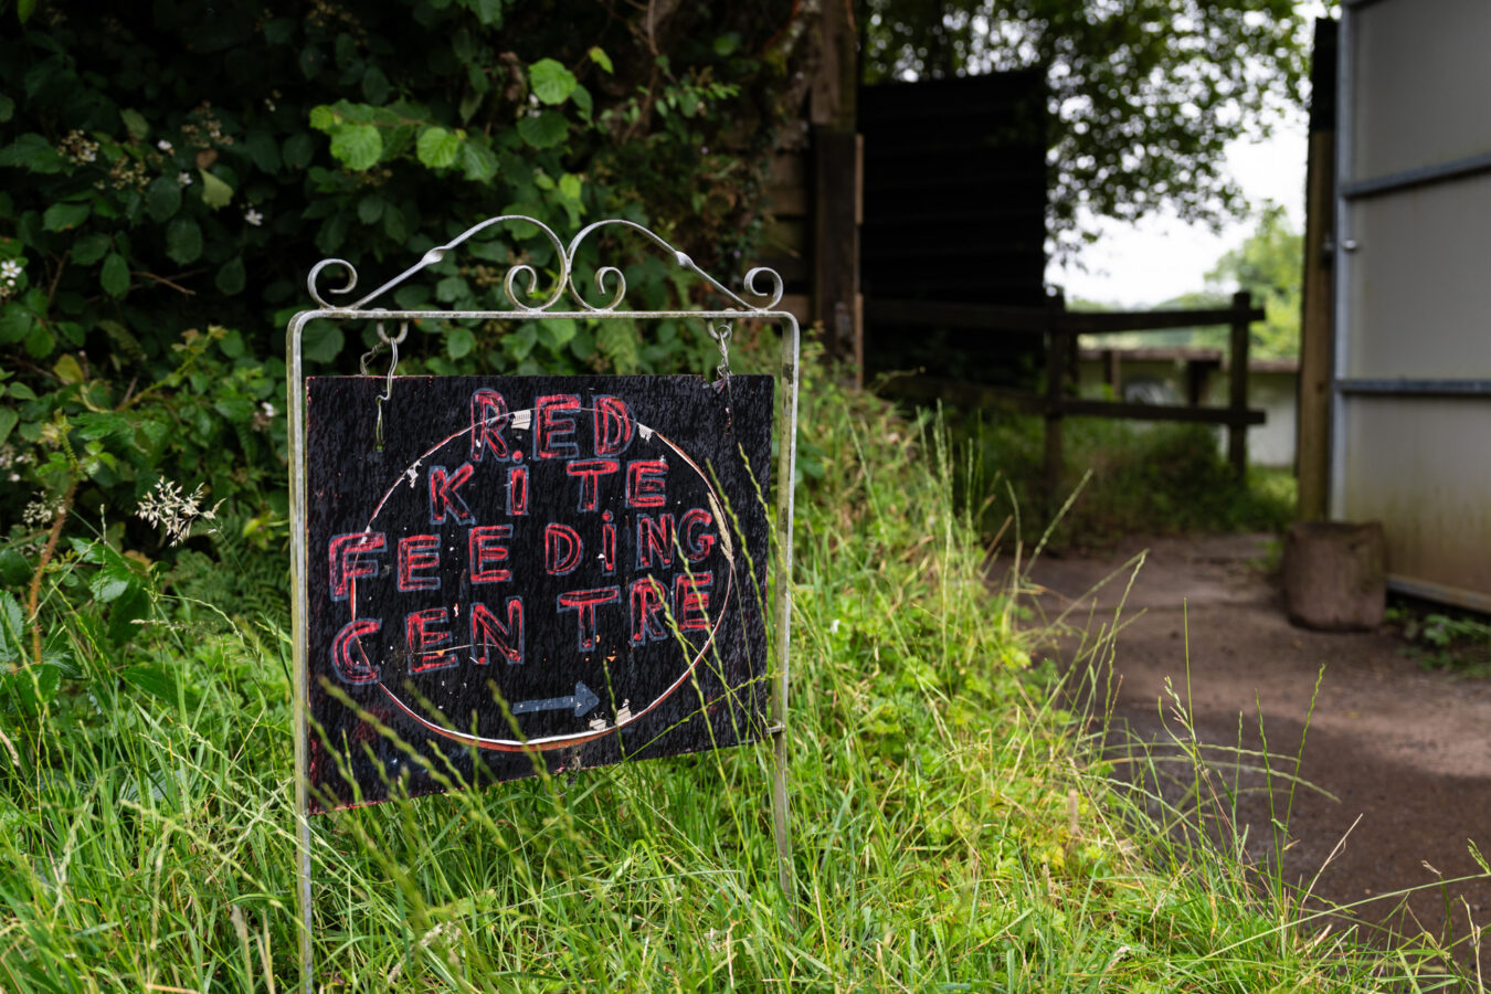
<instances>
[{"instance_id":1,"label":"dark leafy hedge with white blossoms behind the sign","mask_svg":"<svg viewBox=\"0 0 1491 994\"><path fill-rule=\"evenodd\" d=\"M370 289L497 213L561 234L620 216L729 279L799 36L786 0L43 1L0 16L0 516L33 565L67 505L128 520L163 477L282 519L283 328L324 256ZM495 307L511 265L556 274L532 225L468 247L397 306ZM689 292L641 244L587 241L579 277L602 255L632 307ZM349 331L362 341L313 328L312 368L355 368L374 331ZM643 340L428 322L412 338L406 371L707 368L680 325Z\"/></svg>"}]
</instances>

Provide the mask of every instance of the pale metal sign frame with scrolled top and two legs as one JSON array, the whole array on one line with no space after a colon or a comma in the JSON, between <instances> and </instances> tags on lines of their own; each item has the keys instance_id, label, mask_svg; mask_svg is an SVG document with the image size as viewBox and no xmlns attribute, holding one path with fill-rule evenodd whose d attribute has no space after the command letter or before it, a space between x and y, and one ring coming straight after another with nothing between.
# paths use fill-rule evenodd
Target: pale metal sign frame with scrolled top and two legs
<instances>
[{"instance_id":1,"label":"pale metal sign frame with scrolled top and two legs","mask_svg":"<svg viewBox=\"0 0 1491 994\"><path fill-rule=\"evenodd\" d=\"M462 243L468 241L479 232L494 228L501 224L528 224L538 229L550 244L555 247L558 255L559 273L556 277L555 291L543 303L534 306L528 304L526 298L537 294L538 289L538 271L528 262L516 262L508 270L502 279L502 295L507 300L508 307L502 310L388 310L382 307L371 306L380 297L392 291L395 286L404 283L410 277L419 274L420 271L435 265L444 259L450 252L456 250ZM655 246L661 247L668 256L672 258L678 268L702 277L710 288L726 298L732 306L719 310L662 310L662 311L637 311L637 310L620 310L626 298L626 277L622 271L613 265L602 265L595 271L595 285L602 295L608 295L608 300L602 304L590 304L580 294L580 289L574 283L574 258L580 244L592 232L616 228L626 229L641 234L646 240L652 241ZM346 285L340 288L331 288L322 291L318 288L316 280L328 268L340 267L346 273ZM517 292L519 280L526 280L528 294L523 295ZM759 289L765 280L766 289ZM775 545L777 545L777 586L774 590L774 607L777 618L777 641L775 641L775 660L768 668L768 727L766 732L772 739L772 784L771 784L771 817L772 817L772 835L775 838L777 846L777 881L784 894L792 896L793 891L793 873L792 873L792 838L787 826L787 738L786 738L786 721L787 721L787 675L790 663L790 621L792 621L792 598L790 598L790 581L792 581L792 520L793 520L793 472L796 469L796 452L798 452L798 374L799 374L799 358L801 358L801 331L798 328L798 319L786 311L778 310L777 306L781 303L783 297L783 280L781 276L774 270L765 267L756 267L746 273L744 276L746 294L762 298L765 303L751 304L741 295L735 294L723 283L716 280L713 276L705 273L690 259L684 252L672 247L658 234L649 231L643 225L638 225L625 219L607 219L596 221L586 228L580 229L579 234L571 238L570 244L565 246L559 235L556 235L547 225L534 218L523 215L499 215L497 218L489 218L471 228L465 229L450 241L435 246L425 252L420 259L388 280L370 294L353 300L350 304L338 304L328 301L327 297L350 297L356 291L358 271L346 259L322 259L306 277L306 288L310 292L312 300L316 301L318 307L315 310L304 310L297 313L286 331L285 353L288 359L288 402L286 408L289 411L289 484L291 484L291 572L292 572L292 651L294 651L294 675L295 675L295 702L294 702L294 726L295 726L295 820L297 820L297 888L295 899L300 909L300 924L301 924L301 976L304 982L306 994L312 994L313 990L313 970L312 970L312 894L310 894L310 797L309 797L309 779L307 779L307 747L306 735L303 733L307 720L307 697L309 697L309 666L307 666L307 618L309 618L309 589L307 589L307 542L306 542L306 373L301 356L301 344L304 338L306 328L313 320L458 320L458 322L473 322L473 320L662 320L662 319L686 319L686 320L763 320L768 323L780 325L783 329L781 335L781 371L780 383L783 384L783 408L784 417L780 426L780 444L777 452L777 522L775 522ZM564 300L568 292L573 304L579 306L579 310L559 310L561 300ZM711 329L711 334L713 329ZM385 337L385 341L386 337ZM397 346L395 346L397 349ZM728 349L728 337L720 341L720 350L725 353ZM397 350L395 350L397 356ZM726 356L728 359L728 356ZM726 367L722 367L722 373L728 373ZM392 379L394 373L389 371ZM771 669L774 666L774 672Z\"/></svg>"}]
</instances>

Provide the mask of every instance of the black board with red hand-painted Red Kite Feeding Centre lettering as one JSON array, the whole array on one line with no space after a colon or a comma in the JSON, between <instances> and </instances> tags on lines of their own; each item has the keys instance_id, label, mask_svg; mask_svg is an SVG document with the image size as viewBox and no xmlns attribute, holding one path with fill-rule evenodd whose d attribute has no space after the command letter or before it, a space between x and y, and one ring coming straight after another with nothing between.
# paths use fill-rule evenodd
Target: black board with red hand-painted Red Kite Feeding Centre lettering
<instances>
[{"instance_id":1,"label":"black board with red hand-painted Red Kite Feeding Centre lettering","mask_svg":"<svg viewBox=\"0 0 1491 994\"><path fill-rule=\"evenodd\" d=\"M383 390L306 380L313 811L765 733L771 377Z\"/></svg>"}]
</instances>

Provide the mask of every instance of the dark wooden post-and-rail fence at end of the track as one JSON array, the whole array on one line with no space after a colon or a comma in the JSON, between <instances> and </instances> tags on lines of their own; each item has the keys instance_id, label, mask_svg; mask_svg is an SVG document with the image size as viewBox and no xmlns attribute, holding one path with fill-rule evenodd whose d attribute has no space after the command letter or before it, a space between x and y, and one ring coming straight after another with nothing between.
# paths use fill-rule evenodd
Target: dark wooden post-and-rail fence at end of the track
<instances>
[{"instance_id":1,"label":"dark wooden post-and-rail fence at end of the track","mask_svg":"<svg viewBox=\"0 0 1491 994\"><path fill-rule=\"evenodd\" d=\"M865 322L898 328L947 328L983 334L1039 334L1045 337L1045 390L1011 390L965 380L911 376L890 380L884 392L911 401L942 399L962 407L1041 414L1045 419L1045 481L1056 495L1062 474L1062 420L1065 417L1118 417L1156 422L1194 422L1227 426L1227 460L1241 477L1248 465L1248 426L1261 425L1264 414L1248 408L1248 328L1263 320L1263 308L1242 291L1232 307L1209 310L1069 311L1060 298L1050 307L999 307L927 301L866 300ZM1227 405L1130 404L1087 401L1072 396L1077 382L1077 337L1111 335L1126 331L1227 325Z\"/></svg>"}]
</instances>

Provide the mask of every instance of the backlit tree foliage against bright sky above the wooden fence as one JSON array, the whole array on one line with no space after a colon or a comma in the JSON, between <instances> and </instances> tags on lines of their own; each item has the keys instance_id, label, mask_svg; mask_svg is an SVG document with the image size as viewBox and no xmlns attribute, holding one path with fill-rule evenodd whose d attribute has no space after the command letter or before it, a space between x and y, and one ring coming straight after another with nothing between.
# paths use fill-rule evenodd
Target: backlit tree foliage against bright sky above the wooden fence
<instances>
[{"instance_id":1,"label":"backlit tree foliage against bright sky above the wooden fence","mask_svg":"<svg viewBox=\"0 0 1491 994\"><path fill-rule=\"evenodd\" d=\"M1044 67L1057 249L1084 216L1160 207L1220 224L1242 207L1227 142L1297 107L1308 33L1294 0L868 0L866 79Z\"/></svg>"}]
</instances>

